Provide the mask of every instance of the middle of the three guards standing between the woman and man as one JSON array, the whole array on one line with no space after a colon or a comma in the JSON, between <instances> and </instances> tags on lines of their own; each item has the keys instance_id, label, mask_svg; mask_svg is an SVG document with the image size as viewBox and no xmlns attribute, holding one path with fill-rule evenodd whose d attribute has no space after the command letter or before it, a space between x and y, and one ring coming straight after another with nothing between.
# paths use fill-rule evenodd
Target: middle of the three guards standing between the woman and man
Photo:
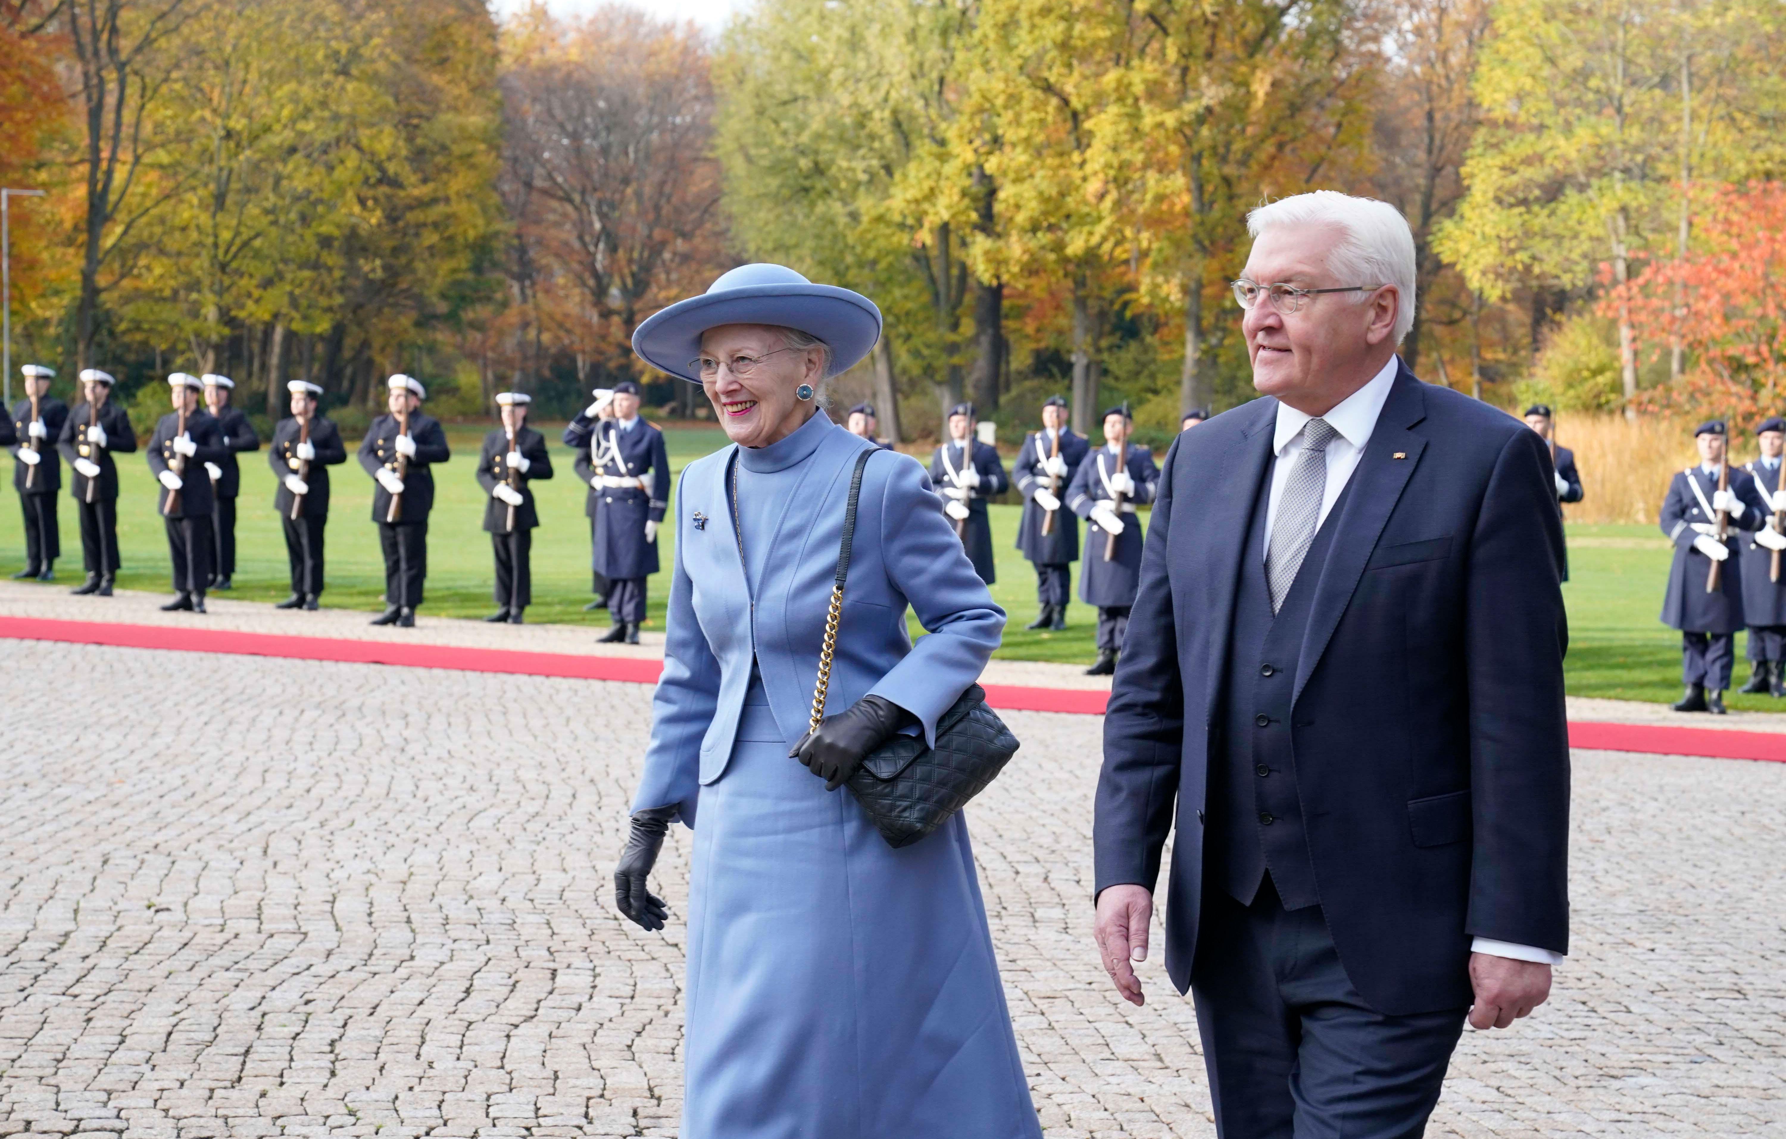
<instances>
[{"instance_id":1,"label":"middle of the three guards standing between the woman and man","mask_svg":"<svg viewBox=\"0 0 1786 1139\"><path fill-rule=\"evenodd\" d=\"M1066 628L1072 566L1079 561L1079 514L1061 509L1061 496L1091 443L1066 427L1066 400L1048 396L1041 405L1041 430L1023 439L1011 473L1023 495L1023 520L1016 548L1036 566L1039 611L1027 628Z\"/></svg>"}]
</instances>

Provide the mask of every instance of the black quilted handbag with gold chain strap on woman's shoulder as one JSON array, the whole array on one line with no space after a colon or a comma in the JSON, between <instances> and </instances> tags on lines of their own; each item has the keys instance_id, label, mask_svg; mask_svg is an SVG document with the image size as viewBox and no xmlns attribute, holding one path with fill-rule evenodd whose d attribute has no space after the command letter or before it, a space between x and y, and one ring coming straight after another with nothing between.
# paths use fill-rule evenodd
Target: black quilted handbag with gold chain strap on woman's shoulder
<instances>
[{"instance_id":1,"label":"black quilted handbag with gold chain strap on woman's shoulder","mask_svg":"<svg viewBox=\"0 0 1786 1139\"><path fill-rule=\"evenodd\" d=\"M825 718L825 693L830 689L830 661L838 648L838 621L843 618L843 582L850 575L850 543L855 537L855 502L863 491L863 468L875 452L863 450L850 477L850 503L843 512L843 548L838 552L838 578L830 587L830 612L825 618L825 646L818 653L818 686L813 691L813 723ZM948 816L986 789L1016 755L1018 741L998 714L986 707L986 689L968 691L936 721L936 746L922 736L895 736L863 759L848 787L863 805L875 830L895 850L911 846L948 821Z\"/></svg>"}]
</instances>

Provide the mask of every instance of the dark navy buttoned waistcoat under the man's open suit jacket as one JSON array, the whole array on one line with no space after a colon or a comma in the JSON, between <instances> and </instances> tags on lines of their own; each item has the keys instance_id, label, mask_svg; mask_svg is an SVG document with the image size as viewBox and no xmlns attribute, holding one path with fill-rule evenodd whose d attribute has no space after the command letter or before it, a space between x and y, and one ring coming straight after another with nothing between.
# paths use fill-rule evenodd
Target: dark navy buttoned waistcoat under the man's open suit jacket
<instances>
[{"instance_id":1,"label":"dark navy buttoned waistcoat under the man's open suit jacket","mask_svg":"<svg viewBox=\"0 0 1786 1139\"><path fill-rule=\"evenodd\" d=\"M1272 466L1254 495L1247 553L1241 559L1234 596L1234 632L1227 653L1227 698L1222 712L1222 764L1211 771L1209 882L1250 905L1270 869L1284 909L1316 905L1314 864L1304 834L1297 794L1297 762L1289 743L1291 694L1302 634L1309 625L1314 586L1320 582L1327 548L1352 493L1350 482L1327 512L1284 607L1272 616L1272 591L1264 577L1264 512L1270 502ZM1279 503L1279 514L1282 514ZM1266 821L1270 819L1270 821Z\"/></svg>"}]
</instances>

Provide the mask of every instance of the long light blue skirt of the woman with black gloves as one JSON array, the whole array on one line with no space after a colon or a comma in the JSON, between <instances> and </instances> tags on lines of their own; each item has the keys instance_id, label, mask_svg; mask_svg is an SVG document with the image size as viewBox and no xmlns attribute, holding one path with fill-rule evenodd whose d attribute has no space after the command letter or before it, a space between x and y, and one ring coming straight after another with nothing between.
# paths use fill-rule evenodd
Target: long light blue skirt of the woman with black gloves
<instances>
[{"instance_id":1,"label":"long light blue skirt of the woman with black gloves","mask_svg":"<svg viewBox=\"0 0 1786 1139\"><path fill-rule=\"evenodd\" d=\"M759 684L688 912L682 1139L1039 1139L963 818L893 850Z\"/></svg>"}]
</instances>

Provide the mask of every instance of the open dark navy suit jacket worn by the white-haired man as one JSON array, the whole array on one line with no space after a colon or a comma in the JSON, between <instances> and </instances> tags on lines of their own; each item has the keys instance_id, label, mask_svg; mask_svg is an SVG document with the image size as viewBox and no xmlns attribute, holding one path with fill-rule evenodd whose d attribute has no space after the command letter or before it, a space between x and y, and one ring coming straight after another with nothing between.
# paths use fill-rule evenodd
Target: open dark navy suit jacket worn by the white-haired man
<instances>
[{"instance_id":1,"label":"open dark navy suit jacket worn by the white-haired man","mask_svg":"<svg viewBox=\"0 0 1786 1139\"><path fill-rule=\"evenodd\" d=\"M1104 721L1097 889L1154 889L1177 825L1164 923L1181 993L1275 421L1261 398L1173 443ZM1472 937L1568 948L1563 528L1545 441L1406 364L1348 487L1302 637L1293 777L1347 975L1379 1012L1434 1012L1470 1003Z\"/></svg>"}]
</instances>

